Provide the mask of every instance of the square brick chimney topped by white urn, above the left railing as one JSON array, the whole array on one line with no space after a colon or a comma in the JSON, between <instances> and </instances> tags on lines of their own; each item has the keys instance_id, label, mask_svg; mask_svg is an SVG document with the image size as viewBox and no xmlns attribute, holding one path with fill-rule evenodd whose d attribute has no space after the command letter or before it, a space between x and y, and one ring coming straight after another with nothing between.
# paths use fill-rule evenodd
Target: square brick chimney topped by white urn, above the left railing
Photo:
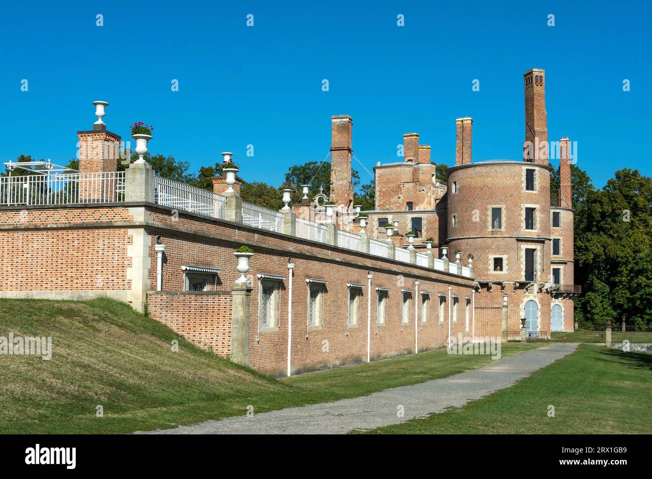
<instances>
[{"instance_id":1,"label":"square brick chimney topped by white urn, above the left railing","mask_svg":"<svg viewBox=\"0 0 652 479\"><path fill-rule=\"evenodd\" d=\"M106 102L93 102L101 108L96 109L98 121L93 124L93 130L77 132L78 159L80 173L97 173L100 171L116 171L117 158L120 150L120 136L106 129L104 107Z\"/></svg>"}]
</instances>

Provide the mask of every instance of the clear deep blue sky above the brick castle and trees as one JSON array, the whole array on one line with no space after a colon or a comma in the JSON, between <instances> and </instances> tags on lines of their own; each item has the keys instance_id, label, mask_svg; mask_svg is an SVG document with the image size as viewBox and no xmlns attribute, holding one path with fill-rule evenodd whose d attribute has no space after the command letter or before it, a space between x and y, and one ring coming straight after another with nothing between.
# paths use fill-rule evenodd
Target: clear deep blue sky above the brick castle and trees
<instances>
[{"instance_id":1,"label":"clear deep blue sky above the brick castle and trees","mask_svg":"<svg viewBox=\"0 0 652 479\"><path fill-rule=\"evenodd\" d=\"M76 131L95 121L91 102L105 100L123 139L144 121L155 126L151 152L197 170L233 151L244 179L274 185L289 166L325 158L331 115L353 117L353 152L370 171L398 159L406 132L453 164L462 116L473 117L473 160L517 160L522 74L536 67L550 139L577 141L578 166L600 187L622 167L652 175L651 13L628 1L7 3L0 159L65 164Z\"/></svg>"}]
</instances>

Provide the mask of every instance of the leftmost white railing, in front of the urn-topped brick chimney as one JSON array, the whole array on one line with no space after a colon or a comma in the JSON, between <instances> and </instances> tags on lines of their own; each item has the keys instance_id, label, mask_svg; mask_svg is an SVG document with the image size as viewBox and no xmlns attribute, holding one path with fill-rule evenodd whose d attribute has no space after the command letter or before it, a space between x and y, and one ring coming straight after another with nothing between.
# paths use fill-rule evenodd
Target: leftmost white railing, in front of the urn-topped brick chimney
<instances>
[{"instance_id":1,"label":"leftmost white railing, in front of the urn-topped brick chimney","mask_svg":"<svg viewBox=\"0 0 652 479\"><path fill-rule=\"evenodd\" d=\"M70 205L125 201L125 172L0 177L0 205Z\"/></svg>"}]
</instances>

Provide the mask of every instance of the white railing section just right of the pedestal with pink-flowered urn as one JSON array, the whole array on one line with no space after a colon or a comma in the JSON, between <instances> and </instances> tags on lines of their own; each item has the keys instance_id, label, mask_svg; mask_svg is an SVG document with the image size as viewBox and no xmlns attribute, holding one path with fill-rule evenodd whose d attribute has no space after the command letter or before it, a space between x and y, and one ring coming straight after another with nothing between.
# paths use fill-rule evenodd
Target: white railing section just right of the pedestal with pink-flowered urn
<instances>
[{"instance_id":1,"label":"white railing section just right of the pedestal with pink-flowered urn","mask_svg":"<svg viewBox=\"0 0 652 479\"><path fill-rule=\"evenodd\" d=\"M180 181L155 177L154 201L177 210L224 219L226 197Z\"/></svg>"}]
</instances>

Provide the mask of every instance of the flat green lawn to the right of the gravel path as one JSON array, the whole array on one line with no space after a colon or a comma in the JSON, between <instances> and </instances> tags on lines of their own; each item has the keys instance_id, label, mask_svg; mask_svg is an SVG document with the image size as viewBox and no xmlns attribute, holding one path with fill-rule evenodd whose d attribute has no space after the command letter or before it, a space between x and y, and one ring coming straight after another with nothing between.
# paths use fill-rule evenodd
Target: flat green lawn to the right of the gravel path
<instances>
[{"instance_id":1,"label":"flat green lawn to the right of the gravel path","mask_svg":"<svg viewBox=\"0 0 652 479\"><path fill-rule=\"evenodd\" d=\"M548 406L554 417L548 417ZM446 413L368 433L652 433L652 355L579 349L515 386Z\"/></svg>"}]
</instances>

